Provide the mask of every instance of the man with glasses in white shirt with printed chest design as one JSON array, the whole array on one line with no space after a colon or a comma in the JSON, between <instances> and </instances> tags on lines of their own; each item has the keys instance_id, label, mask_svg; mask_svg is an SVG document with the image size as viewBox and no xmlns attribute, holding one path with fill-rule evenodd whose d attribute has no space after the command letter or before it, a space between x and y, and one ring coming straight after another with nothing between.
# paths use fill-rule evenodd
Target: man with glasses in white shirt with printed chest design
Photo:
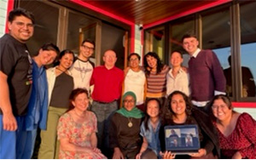
<instances>
[{"instance_id":1,"label":"man with glasses in white shirt with printed chest design","mask_svg":"<svg viewBox=\"0 0 256 160\"><path fill-rule=\"evenodd\" d=\"M82 88L90 91L90 77L94 68L94 63L91 62L90 56L95 49L95 43L90 39L86 39L80 46L79 57L70 68L74 80L74 88Z\"/></svg>"}]
</instances>

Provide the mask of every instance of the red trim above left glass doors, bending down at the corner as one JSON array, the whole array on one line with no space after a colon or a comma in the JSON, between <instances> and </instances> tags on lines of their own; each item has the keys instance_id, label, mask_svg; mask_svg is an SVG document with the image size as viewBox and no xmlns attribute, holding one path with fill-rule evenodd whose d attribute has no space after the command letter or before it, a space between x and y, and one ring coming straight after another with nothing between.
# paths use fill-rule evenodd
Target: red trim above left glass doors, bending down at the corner
<instances>
[{"instance_id":1,"label":"red trim above left glass doors, bending down at the corner","mask_svg":"<svg viewBox=\"0 0 256 160\"><path fill-rule=\"evenodd\" d=\"M119 20L129 26L131 26L131 44L130 44L130 48L131 48L131 52L134 52L134 46L135 46L135 24L129 20L125 20L124 18L122 17L119 17L118 15L116 14L112 14L106 10L103 10L103 9L100 9L100 8L97 8L89 3L85 3L84 1L82 0L70 0L70 2L72 3L77 3L87 9L91 9L91 10L94 10L96 11L97 13L100 13L100 14L104 14L104 15L107 15L108 17L110 18L113 18L114 20Z\"/></svg>"}]
</instances>

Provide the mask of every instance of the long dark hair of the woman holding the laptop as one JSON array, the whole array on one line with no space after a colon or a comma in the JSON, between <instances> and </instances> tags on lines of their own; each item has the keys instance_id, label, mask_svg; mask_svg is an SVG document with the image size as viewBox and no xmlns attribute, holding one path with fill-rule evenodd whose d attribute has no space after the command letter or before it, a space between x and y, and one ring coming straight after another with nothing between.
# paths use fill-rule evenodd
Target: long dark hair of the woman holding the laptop
<instances>
[{"instance_id":1,"label":"long dark hair of the woman holding the laptop","mask_svg":"<svg viewBox=\"0 0 256 160\"><path fill-rule=\"evenodd\" d=\"M175 117L176 115L172 111L171 102L172 102L173 95L177 95L177 94L180 94L183 96L183 100L185 101L185 104L186 104L185 113L187 115L187 118L190 119L190 116L192 114L191 111L192 111L192 107L193 107L191 100L189 99L189 97L186 94L184 94L181 91L176 90L168 96L165 106L162 107L162 111L161 111L162 114L160 117L161 117L161 124L163 124L163 125L173 123L172 117L173 116Z\"/></svg>"}]
</instances>

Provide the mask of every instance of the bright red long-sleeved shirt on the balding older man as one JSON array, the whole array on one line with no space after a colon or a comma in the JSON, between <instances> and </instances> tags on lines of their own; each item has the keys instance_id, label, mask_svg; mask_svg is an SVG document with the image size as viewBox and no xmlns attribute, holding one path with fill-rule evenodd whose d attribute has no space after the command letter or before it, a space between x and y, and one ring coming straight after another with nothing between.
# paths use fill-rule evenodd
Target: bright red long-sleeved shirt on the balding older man
<instances>
[{"instance_id":1,"label":"bright red long-sleeved shirt on the balding older man","mask_svg":"<svg viewBox=\"0 0 256 160\"><path fill-rule=\"evenodd\" d=\"M118 100L124 80L124 71L113 66L108 70L105 66L97 66L90 78L90 85L94 84L91 94L93 100L101 102L112 102Z\"/></svg>"}]
</instances>

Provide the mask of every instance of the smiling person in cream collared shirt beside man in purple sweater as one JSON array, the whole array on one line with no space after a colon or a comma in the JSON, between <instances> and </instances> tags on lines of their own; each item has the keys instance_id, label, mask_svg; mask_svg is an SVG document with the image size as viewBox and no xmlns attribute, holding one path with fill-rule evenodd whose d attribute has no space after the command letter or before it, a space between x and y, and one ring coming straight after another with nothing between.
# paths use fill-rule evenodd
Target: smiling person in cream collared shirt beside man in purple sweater
<instances>
[{"instance_id":1,"label":"smiling person in cream collared shirt beside man in purple sweater","mask_svg":"<svg viewBox=\"0 0 256 160\"><path fill-rule=\"evenodd\" d=\"M170 62L172 69L167 73L166 95L172 94L173 91L179 90L189 96L189 74L183 71L183 54L174 51L171 54Z\"/></svg>"}]
</instances>

